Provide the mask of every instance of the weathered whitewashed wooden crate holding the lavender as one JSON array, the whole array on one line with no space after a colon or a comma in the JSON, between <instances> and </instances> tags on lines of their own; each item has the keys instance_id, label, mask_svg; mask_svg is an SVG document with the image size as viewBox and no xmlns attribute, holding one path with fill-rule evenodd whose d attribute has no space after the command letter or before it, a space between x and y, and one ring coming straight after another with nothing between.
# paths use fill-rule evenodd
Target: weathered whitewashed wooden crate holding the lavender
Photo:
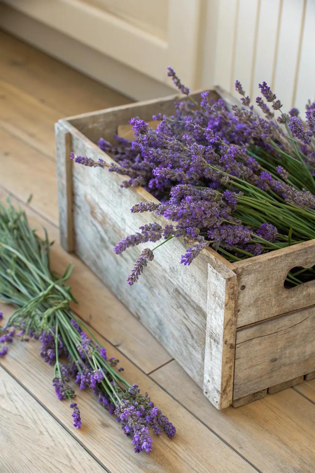
<instances>
[{"instance_id":1,"label":"weathered whitewashed wooden crate holding the lavender","mask_svg":"<svg viewBox=\"0 0 315 473\"><path fill-rule=\"evenodd\" d=\"M214 90L210 95L218 98ZM139 282L128 287L140 248L117 256L113 247L144 223L164 222L130 212L137 202L155 199L141 187L121 189L121 175L73 165L70 152L110 163L97 140L112 140L133 116L149 121L153 114L172 113L175 98L56 124L60 237L222 409L313 376L315 281L285 289L284 280L293 267L315 264L315 240L233 264L206 248L186 267L179 260L187 246L176 238L159 248Z\"/></svg>"}]
</instances>

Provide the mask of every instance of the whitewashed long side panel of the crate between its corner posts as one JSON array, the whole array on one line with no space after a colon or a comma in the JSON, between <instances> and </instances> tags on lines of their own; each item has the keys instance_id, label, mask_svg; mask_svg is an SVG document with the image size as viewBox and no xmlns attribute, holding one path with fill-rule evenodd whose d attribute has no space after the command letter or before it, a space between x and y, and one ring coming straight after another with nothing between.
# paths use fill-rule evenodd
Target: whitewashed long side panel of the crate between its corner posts
<instances>
[{"instance_id":1,"label":"whitewashed long side panel of the crate between its corner posts","mask_svg":"<svg viewBox=\"0 0 315 473\"><path fill-rule=\"evenodd\" d=\"M84 143L74 143L74 148L92 152ZM156 217L131 214L132 205L143 199L135 189L119 188L119 177L100 168L73 166L75 252L202 385L209 256L205 252L185 267L179 261L187 246L173 239L154 253L145 274L129 287L126 278L141 250L155 245L120 255L113 247Z\"/></svg>"}]
</instances>

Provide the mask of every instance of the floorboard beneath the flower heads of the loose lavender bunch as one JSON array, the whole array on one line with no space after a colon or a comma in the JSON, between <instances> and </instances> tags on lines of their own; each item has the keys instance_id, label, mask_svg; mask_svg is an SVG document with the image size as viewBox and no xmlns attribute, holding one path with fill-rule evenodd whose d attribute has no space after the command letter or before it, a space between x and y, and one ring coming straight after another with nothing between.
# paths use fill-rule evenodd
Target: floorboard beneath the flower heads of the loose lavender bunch
<instances>
[{"instance_id":1,"label":"floorboard beneath the flower heads of the loose lavender bunch","mask_svg":"<svg viewBox=\"0 0 315 473\"><path fill-rule=\"evenodd\" d=\"M2 310L3 305L0 307ZM227 470L230 473L255 472L246 460L174 401L152 379L102 337L98 338L105 344L109 356L120 359L127 381L130 384L136 381L142 392L147 392L152 397L153 402L170 417L178 429L172 439L167 438L165 434L154 436L153 451L150 455L134 453L130 438L121 431L115 416L109 415L100 403L97 403L90 390L76 389L76 402L80 408L83 425L82 429L72 427L69 404L56 398L51 385L53 368L41 359L39 341L17 341L10 347L9 356L0 359L0 364L36 396L38 401L71 431L72 436L84 444L111 473L226 473Z\"/></svg>"}]
</instances>

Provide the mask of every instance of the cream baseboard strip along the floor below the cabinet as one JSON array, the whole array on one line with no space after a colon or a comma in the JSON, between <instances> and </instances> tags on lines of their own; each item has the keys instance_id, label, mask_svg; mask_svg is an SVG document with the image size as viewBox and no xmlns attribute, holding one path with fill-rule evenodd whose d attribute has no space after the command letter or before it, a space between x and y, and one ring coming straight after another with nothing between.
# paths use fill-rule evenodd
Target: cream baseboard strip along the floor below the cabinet
<instances>
[{"instance_id":1,"label":"cream baseboard strip along the floor below the cabinet","mask_svg":"<svg viewBox=\"0 0 315 473\"><path fill-rule=\"evenodd\" d=\"M132 98L168 96L174 89L0 3L0 28L102 84Z\"/></svg>"}]
</instances>

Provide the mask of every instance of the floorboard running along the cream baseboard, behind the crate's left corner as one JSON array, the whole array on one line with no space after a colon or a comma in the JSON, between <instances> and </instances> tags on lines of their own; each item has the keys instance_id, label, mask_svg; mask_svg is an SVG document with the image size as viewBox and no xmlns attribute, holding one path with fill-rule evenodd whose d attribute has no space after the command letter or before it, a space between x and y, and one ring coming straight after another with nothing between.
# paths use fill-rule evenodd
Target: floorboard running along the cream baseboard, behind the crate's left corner
<instances>
[{"instance_id":1,"label":"floorboard running along the cream baseboard, behind the crate's left corner","mask_svg":"<svg viewBox=\"0 0 315 473\"><path fill-rule=\"evenodd\" d=\"M58 111L60 116L130 101L2 31L0 44L0 79Z\"/></svg>"}]
</instances>

